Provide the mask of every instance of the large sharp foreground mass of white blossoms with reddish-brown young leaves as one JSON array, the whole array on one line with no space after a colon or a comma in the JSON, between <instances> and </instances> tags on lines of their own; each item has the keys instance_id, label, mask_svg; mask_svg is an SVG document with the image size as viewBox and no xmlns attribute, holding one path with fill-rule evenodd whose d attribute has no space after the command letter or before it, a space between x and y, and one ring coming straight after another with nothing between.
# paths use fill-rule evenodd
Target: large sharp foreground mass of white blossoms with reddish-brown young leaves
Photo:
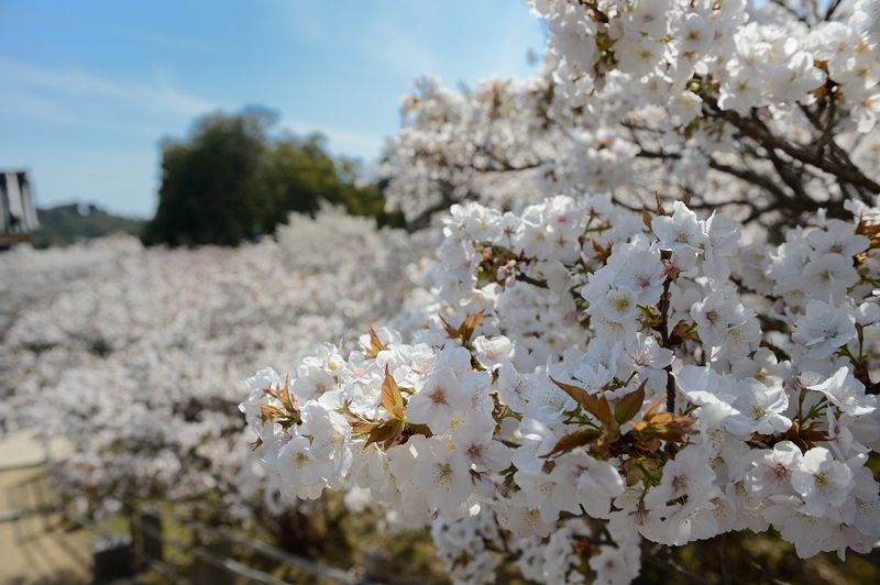
<instances>
[{"instance_id":1,"label":"large sharp foreground mass of white blossoms with reddish-brown young leaves","mask_svg":"<svg viewBox=\"0 0 880 585\"><path fill-rule=\"evenodd\" d=\"M641 539L771 527L803 558L868 552L878 205L776 247L679 201L453 206L420 328L249 380L253 456L283 499L358 486L436 519L462 582L497 553L547 583L627 583Z\"/></svg>"}]
</instances>

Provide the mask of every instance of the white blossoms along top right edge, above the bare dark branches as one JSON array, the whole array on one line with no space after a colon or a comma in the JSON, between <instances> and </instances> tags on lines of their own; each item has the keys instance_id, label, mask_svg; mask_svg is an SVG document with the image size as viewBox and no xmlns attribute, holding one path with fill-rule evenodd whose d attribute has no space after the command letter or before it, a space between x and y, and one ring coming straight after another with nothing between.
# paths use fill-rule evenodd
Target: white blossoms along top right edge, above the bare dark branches
<instances>
[{"instance_id":1,"label":"white blossoms along top right edge, above the bare dark branches","mask_svg":"<svg viewBox=\"0 0 880 585\"><path fill-rule=\"evenodd\" d=\"M810 104L831 79L839 107L868 132L880 103L876 2L855 2L849 18L816 22L745 0L534 0L551 31L554 71L574 104L606 99L606 85L631 89L682 123L700 114L705 85L717 106L746 115L751 108ZM637 89L654 88L653 93Z\"/></svg>"}]
</instances>

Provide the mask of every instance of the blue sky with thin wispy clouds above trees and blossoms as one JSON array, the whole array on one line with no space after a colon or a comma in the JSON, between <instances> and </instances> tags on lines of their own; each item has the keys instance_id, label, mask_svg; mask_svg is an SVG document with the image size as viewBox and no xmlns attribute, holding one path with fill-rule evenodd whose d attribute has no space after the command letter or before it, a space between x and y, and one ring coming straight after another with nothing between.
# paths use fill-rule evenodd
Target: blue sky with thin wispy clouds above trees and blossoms
<instances>
[{"instance_id":1,"label":"blue sky with thin wispy clouds above trees and blossoms","mask_svg":"<svg viewBox=\"0 0 880 585\"><path fill-rule=\"evenodd\" d=\"M0 0L0 168L148 217L158 141L199 114L265 106L369 162L413 78L528 76L542 45L518 0Z\"/></svg>"}]
</instances>

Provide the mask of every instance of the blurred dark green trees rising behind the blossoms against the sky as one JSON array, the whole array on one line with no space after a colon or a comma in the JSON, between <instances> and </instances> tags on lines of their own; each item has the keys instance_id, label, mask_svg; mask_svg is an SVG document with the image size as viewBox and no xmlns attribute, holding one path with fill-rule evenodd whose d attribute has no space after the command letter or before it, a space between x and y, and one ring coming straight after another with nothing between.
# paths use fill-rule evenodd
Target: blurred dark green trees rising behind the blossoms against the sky
<instances>
[{"instance_id":1,"label":"blurred dark green trees rising behind the blossoms against the sky","mask_svg":"<svg viewBox=\"0 0 880 585\"><path fill-rule=\"evenodd\" d=\"M164 141L158 209L144 243L235 245L271 233L292 211L315 213L321 201L395 222L378 190L359 185L356 162L333 158L320 134L274 136L276 121L262 109L217 113L186 140Z\"/></svg>"}]
</instances>

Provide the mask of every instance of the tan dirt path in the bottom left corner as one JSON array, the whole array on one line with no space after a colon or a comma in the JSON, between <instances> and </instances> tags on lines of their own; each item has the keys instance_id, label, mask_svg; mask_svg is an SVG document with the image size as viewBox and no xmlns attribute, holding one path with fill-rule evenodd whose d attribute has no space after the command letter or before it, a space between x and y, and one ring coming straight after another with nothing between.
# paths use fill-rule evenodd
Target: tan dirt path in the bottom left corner
<instances>
[{"instance_id":1,"label":"tan dirt path in the bottom left corner","mask_svg":"<svg viewBox=\"0 0 880 585\"><path fill-rule=\"evenodd\" d=\"M0 584L91 582L91 534L47 511L52 495L28 435L0 439Z\"/></svg>"}]
</instances>

